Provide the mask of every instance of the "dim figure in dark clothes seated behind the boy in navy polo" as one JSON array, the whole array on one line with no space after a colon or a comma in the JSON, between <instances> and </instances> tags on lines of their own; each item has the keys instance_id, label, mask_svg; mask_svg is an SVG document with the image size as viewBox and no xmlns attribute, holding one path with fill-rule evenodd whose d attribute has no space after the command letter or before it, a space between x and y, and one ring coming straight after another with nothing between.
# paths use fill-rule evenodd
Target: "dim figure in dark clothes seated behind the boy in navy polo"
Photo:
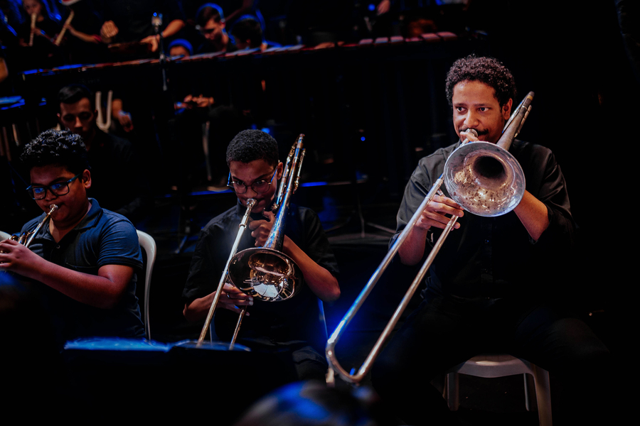
<instances>
[{"instance_id":1,"label":"dim figure in dark clothes seated behind the boy in navy polo","mask_svg":"<svg viewBox=\"0 0 640 426\"><path fill-rule=\"evenodd\" d=\"M144 218L151 204L149 185L139 172L132 143L98 129L94 99L80 84L60 89L60 126L82 136L87 147L95 178L89 195L105 208L137 221Z\"/></svg>"}]
</instances>

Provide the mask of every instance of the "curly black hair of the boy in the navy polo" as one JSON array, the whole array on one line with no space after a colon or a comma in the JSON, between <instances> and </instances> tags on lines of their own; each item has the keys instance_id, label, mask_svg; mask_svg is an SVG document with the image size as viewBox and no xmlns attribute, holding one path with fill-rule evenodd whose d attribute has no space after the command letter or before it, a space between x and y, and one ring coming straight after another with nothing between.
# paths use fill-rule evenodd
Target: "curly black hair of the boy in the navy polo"
<instances>
[{"instance_id":1,"label":"curly black hair of the boy in the navy polo","mask_svg":"<svg viewBox=\"0 0 640 426\"><path fill-rule=\"evenodd\" d=\"M68 130L43 131L24 147L20 159L27 170L45 165L61 165L76 175L91 170L85 143Z\"/></svg>"}]
</instances>

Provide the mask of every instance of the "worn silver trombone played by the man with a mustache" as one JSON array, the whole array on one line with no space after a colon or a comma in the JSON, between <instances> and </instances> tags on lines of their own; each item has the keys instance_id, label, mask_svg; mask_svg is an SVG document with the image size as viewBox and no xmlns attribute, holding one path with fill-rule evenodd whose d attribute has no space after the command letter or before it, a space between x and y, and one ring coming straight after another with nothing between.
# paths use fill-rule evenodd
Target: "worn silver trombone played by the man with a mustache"
<instances>
[{"instance_id":1,"label":"worn silver trombone played by the man with a mustache","mask_svg":"<svg viewBox=\"0 0 640 426\"><path fill-rule=\"evenodd\" d=\"M378 266L378 268L375 270L361 293L358 295L358 297L356 297L356 301L353 302L353 305L351 305L349 310L346 312L346 314L338 324L338 327L336 327L334 332L331 334L331 337L329 337L329 340L327 340L326 360L329 362L329 366L331 366L334 371L337 371L338 374L343 378L343 380L350 383L360 383L362 379L369 373L371 367L373 366L373 361L375 361L375 359L378 357L378 354L380 354L380 351L382 351L383 345L385 344L391 332L393 332L395 324L398 324L400 315L402 315L402 312L404 312L409 305L411 297L414 295L415 291L422 283L422 280L425 278L425 275L427 274L427 271L433 263L435 256L437 256L440 247L444 243L444 240L447 239L449 231L451 231L452 227L457 221L457 216L454 216L449 220L447 226L445 226L444 231L442 231L442 234L440 234L439 239L434 244L433 249L429 253L429 256L427 256L425 263L422 264L422 268L420 268L420 271L412 281L409 290L407 290L407 293L405 293L405 296L402 298L400 305L398 305L398 307L396 308L393 316L391 317L391 320L387 323L382 334L380 334L380 337L378 337L378 340L375 342L373 349L371 349L371 351L369 352L360 369L355 374L351 374L346 371L340 365L338 359L336 358L336 344L338 344L338 340L346 330L348 324L351 322L351 320L353 320L353 317L356 316L356 313L363 305L369 293L371 293L371 290L373 290L375 284L378 283L378 279L380 279L380 276L383 274L386 268L388 268L391 260L393 259L393 256L395 256L395 253L398 253L400 246L402 246L405 239L407 239L407 236L409 235L412 227L415 226L415 223L418 221L418 219L420 219L422 211L425 209L425 207L427 207L427 204L431 202L434 195L436 195L436 193L439 191L442 183L447 182L447 179L449 179L448 176L452 175L454 178L457 178L460 173L467 173L467 175L464 176L464 178L466 178L466 180L464 180L464 185L460 186L465 187L466 189L471 189L471 191L458 190L457 188L449 187L449 184L447 184L447 190L449 191L449 195L452 195L452 199L455 202L457 202L461 207L473 214L478 214L481 216L498 216L500 214L506 214L507 212L510 212L511 209L515 208L518 205L524 194L525 178L522 168L520 167L518 162L515 160L515 158L513 158L511 154L508 153L508 148L509 146L511 146L513 138L517 136L526 117L528 116L528 112L530 111L531 99L533 99L533 92L529 92L523 102L521 102L521 104L516 107L516 110L513 111L513 114L511 115L503 129L503 134L498 143L496 143L495 145L489 142L467 143L469 141L465 140L463 141L462 146L459 146L451 155L449 155L449 159L444 165L444 173L442 173L442 175L440 175L436 182L434 182L434 185L427 193L425 200L423 200L422 204L420 204L420 207L416 209L410 221L405 226L405 229L400 233L400 235L398 235L398 239L395 240L395 243L393 244L393 246L391 246L385 258L383 258L380 266ZM472 131L473 129L470 130ZM489 145L490 147L487 147L486 145ZM481 148L481 150L484 151L481 151L477 148L471 148L471 150L469 150L469 148L465 148L473 146ZM495 149L496 146L498 148L497 150ZM513 158L513 161L515 161L515 165L511 163L511 158ZM503 170L501 172L499 170L499 167L496 167L495 162L497 162L498 165L513 168L513 173L511 172L511 170ZM489 170L484 170L484 166L487 165L486 163L489 163ZM452 170L452 164L456 164L457 167L462 168ZM459 166L460 164L462 164L462 166ZM511 182L507 182L505 180L506 178L511 179ZM505 181L501 184L501 182L499 182L500 180ZM454 182L457 181L455 181L454 179ZM478 186L481 183L490 184L491 191L493 192L483 191L483 188ZM509 186L513 186L513 188L511 188L511 190L508 190L507 187ZM498 188L498 190L495 189L496 187ZM475 192L473 191L474 188L476 190ZM511 195L501 198L498 202L496 202L499 189L502 189L503 192L508 192ZM453 197L454 192L456 192L457 198ZM458 194L458 192L460 192L460 194ZM488 197L485 197L485 195L487 194ZM464 197L469 197L469 202L467 202ZM517 200L513 200L512 202L511 200L508 200L509 197L515 198ZM467 206L469 208L467 208ZM494 208L498 209L499 212L497 214L494 214L494 212L492 211L492 209Z\"/></svg>"}]
</instances>

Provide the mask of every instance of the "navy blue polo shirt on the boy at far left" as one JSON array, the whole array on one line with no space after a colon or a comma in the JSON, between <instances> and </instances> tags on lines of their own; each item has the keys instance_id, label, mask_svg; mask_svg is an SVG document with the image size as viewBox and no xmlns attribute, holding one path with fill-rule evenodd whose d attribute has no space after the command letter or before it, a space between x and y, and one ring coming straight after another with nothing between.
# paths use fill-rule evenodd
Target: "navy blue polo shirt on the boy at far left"
<instances>
[{"instance_id":1,"label":"navy blue polo shirt on the boy at far left","mask_svg":"<svg viewBox=\"0 0 640 426\"><path fill-rule=\"evenodd\" d=\"M89 212L60 242L54 241L47 224L29 248L56 265L91 275L97 275L98 269L105 265L127 265L132 266L136 273L142 271L142 253L133 224L120 214L100 208L96 200L89 200ZM22 231L35 229L44 216L42 214L27 222ZM53 316L59 339L142 337L144 327L136 297L136 273L122 300L112 309L85 305L42 283L35 283L34 288L41 293Z\"/></svg>"}]
</instances>

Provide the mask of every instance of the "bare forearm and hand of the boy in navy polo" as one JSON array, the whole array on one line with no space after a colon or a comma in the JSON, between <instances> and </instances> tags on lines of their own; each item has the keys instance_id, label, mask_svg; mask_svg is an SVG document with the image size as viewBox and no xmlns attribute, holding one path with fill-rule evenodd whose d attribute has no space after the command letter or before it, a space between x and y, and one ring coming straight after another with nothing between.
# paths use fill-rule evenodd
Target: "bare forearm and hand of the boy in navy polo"
<instances>
[{"instance_id":1,"label":"bare forearm and hand of the boy in navy polo","mask_svg":"<svg viewBox=\"0 0 640 426\"><path fill-rule=\"evenodd\" d=\"M16 241L0 243L0 268L40 281L86 305L109 309L127 290L134 269L126 265L105 265L97 275L72 271L46 261Z\"/></svg>"}]
</instances>

